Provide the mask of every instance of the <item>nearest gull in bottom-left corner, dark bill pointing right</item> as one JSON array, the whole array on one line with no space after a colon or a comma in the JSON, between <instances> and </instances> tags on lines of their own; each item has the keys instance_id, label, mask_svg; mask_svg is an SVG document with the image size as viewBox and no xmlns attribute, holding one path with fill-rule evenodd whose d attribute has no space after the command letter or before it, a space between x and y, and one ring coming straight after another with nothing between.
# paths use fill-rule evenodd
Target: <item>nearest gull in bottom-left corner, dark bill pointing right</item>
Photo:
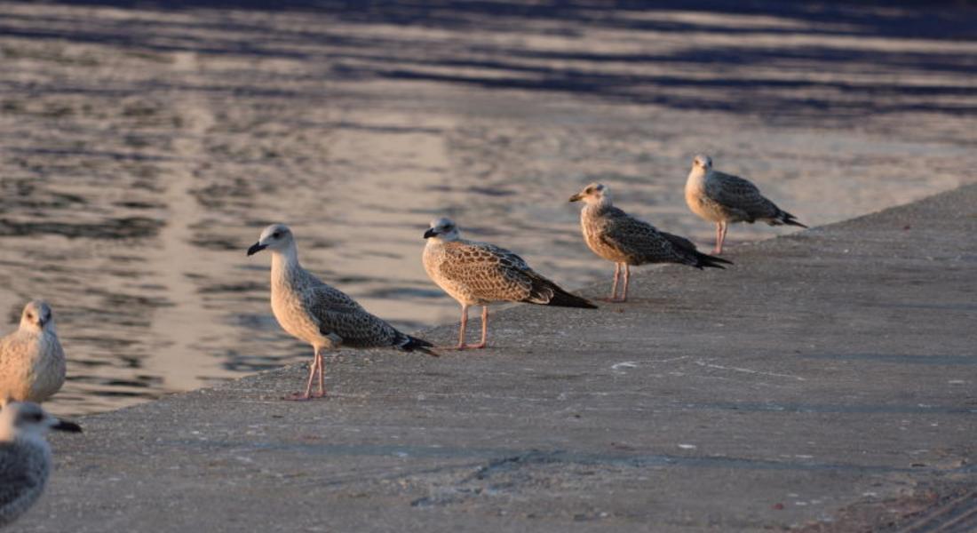
<instances>
[{"instance_id":1,"label":"nearest gull in bottom-left corner, dark bill pointing right","mask_svg":"<svg viewBox=\"0 0 977 533\"><path fill-rule=\"evenodd\" d=\"M0 409L0 527L37 502L51 474L49 429L81 432L74 422L59 421L33 402L7 402Z\"/></svg>"}]
</instances>

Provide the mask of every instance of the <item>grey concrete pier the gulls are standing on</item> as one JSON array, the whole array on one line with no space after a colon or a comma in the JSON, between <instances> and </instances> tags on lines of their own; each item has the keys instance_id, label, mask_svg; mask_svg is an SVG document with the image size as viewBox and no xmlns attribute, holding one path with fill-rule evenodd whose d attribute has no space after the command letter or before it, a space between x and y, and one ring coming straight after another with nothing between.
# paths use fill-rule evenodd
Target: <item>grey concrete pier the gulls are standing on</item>
<instances>
[{"instance_id":1,"label":"grey concrete pier the gulls are standing on","mask_svg":"<svg viewBox=\"0 0 977 533\"><path fill-rule=\"evenodd\" d=\"M86 417L15 529L973 530L975 234L969 185L500 311L485 351L343 352L328 400L278 399L302 366Z\"/></svg>"}]
</instances>

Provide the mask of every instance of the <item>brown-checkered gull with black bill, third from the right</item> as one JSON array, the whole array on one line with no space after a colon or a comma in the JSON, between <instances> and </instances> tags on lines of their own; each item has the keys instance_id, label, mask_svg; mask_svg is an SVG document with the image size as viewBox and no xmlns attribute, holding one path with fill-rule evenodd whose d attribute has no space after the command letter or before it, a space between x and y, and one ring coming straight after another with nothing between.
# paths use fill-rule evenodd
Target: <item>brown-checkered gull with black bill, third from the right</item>
<instances>
[{"instance_id":1,"label":"brown-checkered gull with black bill, third from the right","mask_svg":"<svg viewBox=\"0 0 977 533\"><path fill-rule=\"evenodd\" d=\"M536 274L522 257L488 243L461 239L458 227L447 218L431 222L424 232L424 270L438 287L461 304L458 350L485 348L488 337L488 305L516 301L596 309L597 306L575 296ZM465 344L468 307L482 306L482 341Z\"/></svg>"}]
</instances>

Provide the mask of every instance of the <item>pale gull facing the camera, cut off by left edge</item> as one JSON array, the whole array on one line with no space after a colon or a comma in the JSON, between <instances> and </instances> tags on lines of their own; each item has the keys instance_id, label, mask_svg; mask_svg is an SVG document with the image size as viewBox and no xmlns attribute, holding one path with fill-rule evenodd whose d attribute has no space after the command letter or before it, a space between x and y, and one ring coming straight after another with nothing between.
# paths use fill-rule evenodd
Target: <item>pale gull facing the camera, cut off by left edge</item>
<instances>
[{"instance_id":1,"label":"pale gull facing the camera, cut off by left edge","mask_svg":"<svg viewBox=\"0 0 977 533\"><path fill-rule=\"evenodd\" d=\"M29 301L20 329L0 338L0 398L41 403L63 384L64 350L51 307Z\"/></svg>"}]
</instances>

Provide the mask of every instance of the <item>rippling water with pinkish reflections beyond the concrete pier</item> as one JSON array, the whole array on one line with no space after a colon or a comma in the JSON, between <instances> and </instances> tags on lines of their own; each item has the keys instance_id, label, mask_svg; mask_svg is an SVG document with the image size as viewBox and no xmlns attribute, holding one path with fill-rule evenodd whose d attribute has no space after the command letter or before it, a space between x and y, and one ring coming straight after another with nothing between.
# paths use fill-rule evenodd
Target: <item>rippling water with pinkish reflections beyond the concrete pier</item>
<instances>
[{"instance_id":1,"label":"rippling water with pinkish reflections beyond the concrete pier","mask_svg":"<svg viewBox=\"0 0 977 533\"><path fill-rule=\"evenodd\" d=\"M682 199L698 152L812 225L955 186L977 162L977 103L956 90L970 43L871 25L4 9L0 305L14 328L27 299L52 304L69 359L59 414L308 361L272 317L268 258L244 255L271 222L323 280L410 331L456 320L420 264L436 216L573 288L610 274L567 202L587 182L708 246ZM797 42L770 52L784 31ZM852 50L830 53L838 39ZM738 227L730 252L782 233Z\"/></svg>"}]
</instances>

